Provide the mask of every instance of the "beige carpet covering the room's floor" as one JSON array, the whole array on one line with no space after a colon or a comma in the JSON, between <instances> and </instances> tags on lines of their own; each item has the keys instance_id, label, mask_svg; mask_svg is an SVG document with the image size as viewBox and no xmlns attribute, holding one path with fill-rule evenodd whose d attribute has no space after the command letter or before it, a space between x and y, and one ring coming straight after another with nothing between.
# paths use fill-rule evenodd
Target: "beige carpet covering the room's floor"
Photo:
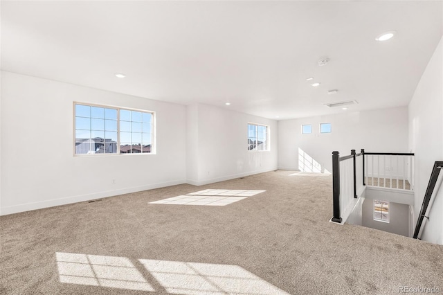
<instances>
[{"instance_id":1,"label":"beige carpet covering the room's floor","mask_svg":"<svg viewBox=\"0 0 443 295\"><path fill-rule=\"evenodd\" d=\"M442 246L332 224L332 177L291 173L183 184L0 217L0 294L443 289ZM227 206L149 204L205 189L266 191Z\"/></svg>"}]
</instances>

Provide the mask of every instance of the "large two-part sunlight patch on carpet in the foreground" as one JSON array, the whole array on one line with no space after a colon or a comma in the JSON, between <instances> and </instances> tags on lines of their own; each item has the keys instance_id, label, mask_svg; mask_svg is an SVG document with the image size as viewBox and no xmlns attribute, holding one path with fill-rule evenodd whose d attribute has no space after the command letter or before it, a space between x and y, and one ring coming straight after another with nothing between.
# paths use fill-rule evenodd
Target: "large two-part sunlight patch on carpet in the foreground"
<instances>
[{"instance_id":1,"label":"large two-part sunlight patch on carpet in the foreground","mask_svg":"<svg viewBox=\"0 0 443 295\"><path fill-rule=\"evenodd\" d=\"M60 283L189 295L289 295L238 265L55 253ZM142 273L149 272L152 287Z\"/></svg>"}]
</instances>

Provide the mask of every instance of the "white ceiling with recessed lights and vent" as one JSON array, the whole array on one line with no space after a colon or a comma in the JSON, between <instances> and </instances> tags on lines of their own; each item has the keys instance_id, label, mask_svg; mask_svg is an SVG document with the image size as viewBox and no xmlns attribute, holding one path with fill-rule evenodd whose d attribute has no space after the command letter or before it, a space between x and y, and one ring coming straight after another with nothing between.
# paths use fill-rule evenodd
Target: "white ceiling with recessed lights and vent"
<instances>
[{"instance_id":1,"label":"white ceiling with recessed lights and vent","mask_svg":"<svg viewBox=\"0 0 443 295\"><path fill-rule=\"evenodd\" d=\"M1 1L1 69L266 118L395 107L442 16L442 1Z\"/></svg>"}]
</instances>

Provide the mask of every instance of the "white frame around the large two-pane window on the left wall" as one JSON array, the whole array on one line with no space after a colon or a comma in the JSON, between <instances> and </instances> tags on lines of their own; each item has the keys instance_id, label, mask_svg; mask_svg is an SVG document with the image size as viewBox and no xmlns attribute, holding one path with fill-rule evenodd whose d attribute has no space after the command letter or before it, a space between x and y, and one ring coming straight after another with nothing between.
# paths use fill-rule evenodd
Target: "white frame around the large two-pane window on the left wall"
<instances>
[{"instance_id":1,"label":"white frame around the large two-pane window on the left wall","mask_svg":"<svg viewBox=\"0 0 443 295\"><path fill-rule=\"evenodd\" d=\"M75 105L85 105L88 107L103 107L105 109L116 109L117 110L117 152L115 153L103 153L103 154L76 154L75 153ZM120 110L124 109L126 111L140 111L142 113L151 114L151 152L140 152L140 153L120 153ZM143 148L143 147L142 147ZM105 157L105 156L117 156L117 155L142 155L142 154L156 154L156 112L148 111L146 109L133 109L129 107L116 107L114 105L98 105L89 102L73 102L73 156L74 157Z\"/></svg>"}]
</instances>

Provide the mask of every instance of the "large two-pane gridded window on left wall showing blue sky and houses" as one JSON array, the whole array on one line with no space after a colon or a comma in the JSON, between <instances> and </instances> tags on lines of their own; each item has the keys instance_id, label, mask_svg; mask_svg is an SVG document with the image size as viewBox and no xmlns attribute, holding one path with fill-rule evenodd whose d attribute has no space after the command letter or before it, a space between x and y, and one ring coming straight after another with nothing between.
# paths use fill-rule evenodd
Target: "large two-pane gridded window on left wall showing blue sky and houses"
<instances>
[{"instance_id":1,"label":"large two-pane gridded window on left wall showing blue sky and houses","mask_svg":"<svg viewBox=\"0 0 443 295\"><path fill-rule=\"evenodd\" d=\"M154 151L154 113L74 104L75 154L139 154Z\"/></svg>"}]
</instances>

